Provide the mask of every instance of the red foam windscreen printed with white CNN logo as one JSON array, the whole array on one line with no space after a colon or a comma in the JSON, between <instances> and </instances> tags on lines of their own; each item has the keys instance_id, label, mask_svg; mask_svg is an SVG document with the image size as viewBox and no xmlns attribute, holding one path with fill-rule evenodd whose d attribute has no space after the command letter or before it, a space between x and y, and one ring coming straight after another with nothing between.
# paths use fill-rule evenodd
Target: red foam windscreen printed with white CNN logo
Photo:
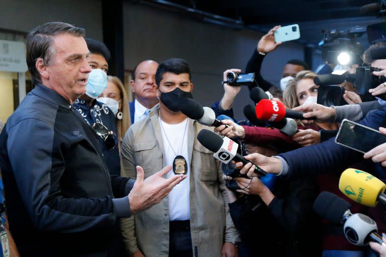
<instances>
[{"instance_id":1,"label":"red foam windscreen printed with white CNN logo","mask_svg":"<svg viewBox=\"0 0 386 257\"><path fill-rule=\"evenodd\" d=\"M261 120L280 121L285 116L282 102L262 99L256 104L256 117Z\"/></svg>"}]
</instances>

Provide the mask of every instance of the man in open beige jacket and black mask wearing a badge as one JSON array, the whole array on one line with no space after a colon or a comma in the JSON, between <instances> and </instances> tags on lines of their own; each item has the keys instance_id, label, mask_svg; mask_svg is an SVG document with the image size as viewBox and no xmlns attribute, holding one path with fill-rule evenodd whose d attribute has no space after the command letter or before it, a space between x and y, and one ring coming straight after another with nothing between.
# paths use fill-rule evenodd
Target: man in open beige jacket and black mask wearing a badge
<instances>
[{"instance_id":1,"label":"man in open beige jacket and black mask wearing a badge","mask_svg":"<svg viewBox=\"0 0 386 257\"><path fill-rule=\"evenodd\" d=\"M126 250L146 257L236 257L239 234L229 214L220 164L197 140L202 129L210 128L178 109L179 99L191 98L193 88L186 61L162 62L155 80L160 104L126 133L122 175L136 176L133 163L143 167L145 177L170 164L167 176L184 173L187 178L159 204L122 220Z\"/></svg>"}]
</instances>

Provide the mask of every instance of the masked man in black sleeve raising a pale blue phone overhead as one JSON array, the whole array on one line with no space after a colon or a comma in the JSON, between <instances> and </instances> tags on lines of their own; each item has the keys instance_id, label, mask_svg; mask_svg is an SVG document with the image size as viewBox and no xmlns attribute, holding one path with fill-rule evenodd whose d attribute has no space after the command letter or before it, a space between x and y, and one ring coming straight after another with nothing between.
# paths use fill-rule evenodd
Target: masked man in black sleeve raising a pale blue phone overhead
<instances>
[{"instance_id":1,"label":"masked man in black sleeve raising a pale blue phone overhead","mask_svg":"<svg viewBox=\"0 0 386 257\"><path fill-rule=\"evenodd\" d=\"M268 91L270 87L274 86L270 82L266 81L260 71L261 71L261 64L264 60L264 57L266 54L274 51L279 45L281 45L281 42L275 42L275 37L273 33L280 28L281 26L275 26L267 34L265 34L258 42L256 49L254 50L251 58L249 59L247 66L245 67L245 72L255 73L255 79L259 87L261 87L264 91ZM309 70L310 67L308 64L301 60L289 60L284 66L280 85L276 86L281 88L281 90L284 90L288 80L291 79L291 77L295 77L296 74L299 71L302 70ZM249 89L252 89L253 86L248 86Z\"/></svg>"}]
</instances>

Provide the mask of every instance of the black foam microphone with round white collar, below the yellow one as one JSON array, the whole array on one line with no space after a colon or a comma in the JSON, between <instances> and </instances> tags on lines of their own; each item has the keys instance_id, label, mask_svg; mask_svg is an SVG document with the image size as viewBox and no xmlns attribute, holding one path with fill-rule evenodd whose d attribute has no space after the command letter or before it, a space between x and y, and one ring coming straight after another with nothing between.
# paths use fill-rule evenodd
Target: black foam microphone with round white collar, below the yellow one
<instances>
[{"instance_id":1,"label":"black foam microphone with round white collar, below the yellow one","mask_svg":"<svg viewBox=\"0 0 386 257\"><path fill-rule=\"evenodd\" d=\"M374 241L386 246L377 233L375 221L361 213L352 214L350 207L347 201L326 191L320 193L314 202L314 211L319 216L335 224L343 224L343 233L350 243L364 246Z\"/></svg>"}]
</instances>

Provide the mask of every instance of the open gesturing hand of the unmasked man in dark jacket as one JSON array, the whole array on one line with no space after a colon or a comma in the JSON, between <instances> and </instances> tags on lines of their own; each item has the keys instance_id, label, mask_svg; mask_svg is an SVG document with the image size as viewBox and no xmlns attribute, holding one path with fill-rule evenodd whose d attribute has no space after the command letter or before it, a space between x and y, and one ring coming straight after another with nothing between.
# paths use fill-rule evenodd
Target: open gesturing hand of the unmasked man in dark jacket
<instances>
[{"instance_id":1,"label":"open gesturing hand of the unmasked man in dark jacket","mask_svg":"<svg viewBox=\"0 0 386 257\"><path fill-rule=\"evenodd\" d=\"M137 166L137 180L128 196L132 214L159 203L175 185L186 178L186 175L175 175L169 179L164 179L162 176L170 169L171 166L166 166L144 180L145 173L140 166Z\"/></svg>"}]
</instances>

